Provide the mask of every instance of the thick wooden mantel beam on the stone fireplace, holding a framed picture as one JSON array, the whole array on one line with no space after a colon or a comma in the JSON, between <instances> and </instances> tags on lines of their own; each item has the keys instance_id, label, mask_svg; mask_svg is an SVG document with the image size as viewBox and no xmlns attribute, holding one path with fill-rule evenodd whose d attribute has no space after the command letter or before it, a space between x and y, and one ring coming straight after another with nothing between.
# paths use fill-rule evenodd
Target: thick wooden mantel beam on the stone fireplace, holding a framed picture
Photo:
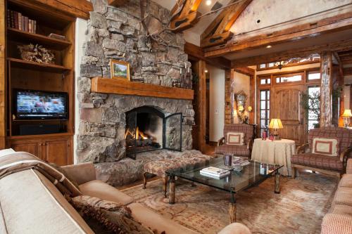
<instances>
[{"instance_id":1,"label":"thick wooden mantel beam on the stone fireplace, holding a framed picture","mask_svg":"<svg viewBox=\"0 0 352 234\"><path fill-rule=\"evenodd\" d=\"M193 100L194 96L194 91L191 89L129 82L124 79L109 79L104 77L94 77L92 79L91 91L96 93L115 93L184 100Z\"/></svg>"}]
</instances>

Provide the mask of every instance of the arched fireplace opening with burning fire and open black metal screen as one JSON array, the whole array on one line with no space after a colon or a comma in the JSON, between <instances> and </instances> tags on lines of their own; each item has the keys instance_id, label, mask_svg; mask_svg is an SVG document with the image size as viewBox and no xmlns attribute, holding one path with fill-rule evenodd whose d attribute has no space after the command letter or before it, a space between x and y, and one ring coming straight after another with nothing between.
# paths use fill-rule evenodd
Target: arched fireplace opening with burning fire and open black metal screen
<instances>
[{"instance_id":1,"label":"arched fireplace opening with burning fire and open black metal screen","mask_svg":"<svg viewBox=\"0 0 352 234\"><path fill-rule=\"evenodd\" d=\"M142 106L126 112L127 157L139 152L182 150L182 113L170 114L155 106Z\"/></svg>"}]
</instances>

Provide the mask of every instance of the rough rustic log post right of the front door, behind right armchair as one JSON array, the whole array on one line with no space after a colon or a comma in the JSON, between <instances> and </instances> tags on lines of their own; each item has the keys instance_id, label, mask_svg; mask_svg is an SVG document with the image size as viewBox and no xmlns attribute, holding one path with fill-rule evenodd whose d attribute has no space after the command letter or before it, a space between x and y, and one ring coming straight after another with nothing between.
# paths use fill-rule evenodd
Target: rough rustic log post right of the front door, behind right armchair
<instances>
[{"instance_id":1,"label":"rough rustic log post right of the front door, behind right armchair","mask_svg":"<svg viewBox=\"0 0 352 234\"><path fill-rule=\"evenodd\" d=\"M320 127L332 126L332 52L320 54Z\"/></svg>"}]
</instances>

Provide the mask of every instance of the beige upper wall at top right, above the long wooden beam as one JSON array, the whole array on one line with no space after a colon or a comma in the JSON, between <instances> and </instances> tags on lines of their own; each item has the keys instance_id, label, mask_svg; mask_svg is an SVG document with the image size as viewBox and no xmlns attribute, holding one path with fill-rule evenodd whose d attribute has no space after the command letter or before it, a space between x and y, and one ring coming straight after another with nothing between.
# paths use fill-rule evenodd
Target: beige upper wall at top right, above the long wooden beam
<instances>
[{"instance_id":1,"label":"beige upper wall at top right, above the long wooden beam","mask_svg":"<svg viewBox=\"0 0 352 234\"><path fill-rule=\"evenodd\" d=\"M237 39L253 37L266 32L275 32L293 27L294 25L301 25L306 22L317 22L324 18L351 11L352 6L344 6L346 4L351 4L351 0L252 1L241 15L239 15L236 22L234 22L231 31L234 32L235 35L241 34L238 35ZM337 7L340 8L334 9ZM312 15L317 13L318 15ZM308 15L311 16L305 17ZM260 22L258 23L257 20L260 20Z\"/></svg>"}]
</instances>

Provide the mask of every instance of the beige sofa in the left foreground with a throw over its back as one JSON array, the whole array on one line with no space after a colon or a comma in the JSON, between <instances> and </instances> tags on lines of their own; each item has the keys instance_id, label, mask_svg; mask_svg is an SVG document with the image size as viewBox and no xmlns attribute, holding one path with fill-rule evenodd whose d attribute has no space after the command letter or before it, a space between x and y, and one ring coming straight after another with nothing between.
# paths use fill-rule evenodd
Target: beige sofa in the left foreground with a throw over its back
<instances>
[{"instance_id":1,"label":"beige sofa in the left foreground with a throw over its back","mask_svg":"<svg viewBox=\"0 0 352 234\"><path fill-rule=\"evenodd\" d=\"M152 230L158 230L158 233L196 233L142 204L134 203L132 197L96 180L92 163L71 165L63 169L70 178L77 181L83 195L127 204L135 220ZM28 169L0 179L0 233L71 234L93 231L51 181L39 171ZM250 231L241 223L232 223L220 233L248 234Z\"/></svg>"}]
</instances>

